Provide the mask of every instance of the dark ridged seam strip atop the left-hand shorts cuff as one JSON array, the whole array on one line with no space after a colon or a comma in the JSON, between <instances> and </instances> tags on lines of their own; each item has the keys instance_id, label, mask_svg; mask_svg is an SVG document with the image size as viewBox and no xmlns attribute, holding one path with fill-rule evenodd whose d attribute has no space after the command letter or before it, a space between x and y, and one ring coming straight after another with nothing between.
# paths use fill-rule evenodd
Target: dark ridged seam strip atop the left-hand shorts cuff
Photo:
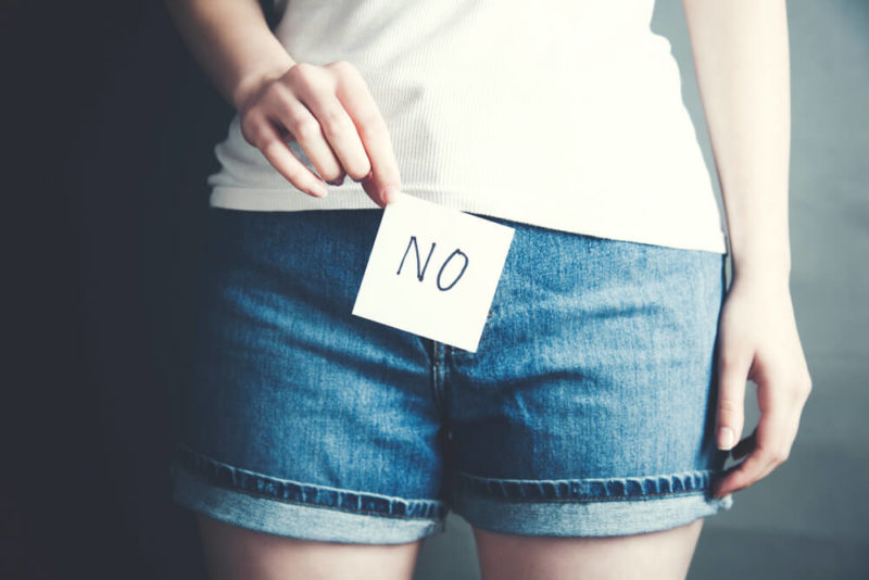
<instances>
[{"instance_id":1,"label":"dark ridged seam strip atop the left-hand shorts cuff","mask_svg":"<svg viewBox=\"0 0 869 580\"><path fill-rule=\"evenodd\" d=\"M184 467L210 482L254 496L406 519L438 519L446 515L446 506L439 500L403 500L272 478L206 457L182 444L175 446L175 456Z\"/></svg>"}]
</instances>

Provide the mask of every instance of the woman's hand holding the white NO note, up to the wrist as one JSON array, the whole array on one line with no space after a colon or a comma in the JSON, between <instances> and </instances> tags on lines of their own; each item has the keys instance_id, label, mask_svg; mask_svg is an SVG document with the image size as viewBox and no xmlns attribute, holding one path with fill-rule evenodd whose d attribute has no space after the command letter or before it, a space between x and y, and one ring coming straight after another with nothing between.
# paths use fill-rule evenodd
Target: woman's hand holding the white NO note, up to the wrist
<instances>
[{"instance_id":1,"label":"woman's hand holding the white NO note, up to the wrist","mask_svg":"<svg viewBox=\"0 0 869 580\"><path fill-rule=\"evenodd\" d=\"M394 199L400 177L387 125L347 61L295 63L249 87L237 108L244 139L298 189L322 198L324 180L340 185L349 175L380 207ZM288 139L299 142L319 176L292 154Z\"/></svg>"}]
</instances>

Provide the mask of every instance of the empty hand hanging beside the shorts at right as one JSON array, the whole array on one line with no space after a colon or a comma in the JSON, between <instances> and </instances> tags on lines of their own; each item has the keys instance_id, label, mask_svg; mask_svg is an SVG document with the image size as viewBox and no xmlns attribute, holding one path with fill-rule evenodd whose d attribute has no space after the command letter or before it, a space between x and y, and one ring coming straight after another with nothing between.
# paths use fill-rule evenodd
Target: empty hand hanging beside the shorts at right
<instances>
[{"instance_id":1,"label":"empty hand hanging beside the shorts at right","mask_svg":"<svg viewBox=\"0 0 869 580\"><path fill-rule=\"evenodd\" d=\"M732 450L734 458L748 456L716 487L715 496L722 497L788 459L811 390L786 277L735 275L721 306L718 341L718 447L731 449L742 434L746 377L757 384L760 409L757 428Z\"/></svg>"}]
</instances>

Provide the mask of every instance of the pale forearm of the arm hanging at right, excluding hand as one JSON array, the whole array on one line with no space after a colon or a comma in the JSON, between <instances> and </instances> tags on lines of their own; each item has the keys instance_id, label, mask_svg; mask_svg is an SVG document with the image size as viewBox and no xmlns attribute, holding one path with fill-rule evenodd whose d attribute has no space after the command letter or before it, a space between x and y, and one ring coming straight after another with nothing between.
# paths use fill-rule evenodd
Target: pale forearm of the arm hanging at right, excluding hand
<instances>
[{"instance_id":1,"label":"pale forearm of the arm hanging at right, excluding hand","mask_svg":"<svg viewBox=\"0 0 869 580\"><path fill-rule=\"evenodd\" d=\"M788 282L791 141L785 0L683 0L721 184L733 274Z\"/></svg>"}]
</instances>

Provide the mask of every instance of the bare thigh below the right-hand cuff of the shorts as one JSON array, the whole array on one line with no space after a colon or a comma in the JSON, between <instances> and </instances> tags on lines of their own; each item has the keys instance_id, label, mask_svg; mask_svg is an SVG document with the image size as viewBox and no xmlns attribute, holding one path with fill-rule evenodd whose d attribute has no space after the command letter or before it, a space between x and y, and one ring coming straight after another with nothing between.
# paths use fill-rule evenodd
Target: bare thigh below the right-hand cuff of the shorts
<instances>
[{"instance_id":1,"label":"bare thigh below the right-hand cuff of the shorts","mask_svg":"<svg viewBox=\"0 0 869 580\"><path fill-rule=\"evenodd\" d=\"M608 538L512 535L474 528L483 580L683 580L703 518Z\"/></svg>"}]
</instances>

